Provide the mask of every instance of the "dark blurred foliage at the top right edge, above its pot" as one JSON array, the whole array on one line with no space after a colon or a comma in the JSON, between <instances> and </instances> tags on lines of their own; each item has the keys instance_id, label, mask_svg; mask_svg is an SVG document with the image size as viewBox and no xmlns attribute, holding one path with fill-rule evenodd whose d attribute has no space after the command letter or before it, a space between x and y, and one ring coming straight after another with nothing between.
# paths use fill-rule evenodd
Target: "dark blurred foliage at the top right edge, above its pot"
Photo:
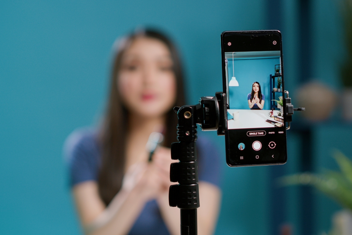
<instances>
[{"instance_id":1,"label":"dark blurred foliage at the top right edge, above its pot","mask_svg":"<svg viewBox=\"0 0 352 235\"><path fill-rule=\"evenodd\" d=\"M341 9L347 48L347 58L341 66L341 79L345 87L352 87L352 0L342 1Z\"/></svg>"}]
</instances>

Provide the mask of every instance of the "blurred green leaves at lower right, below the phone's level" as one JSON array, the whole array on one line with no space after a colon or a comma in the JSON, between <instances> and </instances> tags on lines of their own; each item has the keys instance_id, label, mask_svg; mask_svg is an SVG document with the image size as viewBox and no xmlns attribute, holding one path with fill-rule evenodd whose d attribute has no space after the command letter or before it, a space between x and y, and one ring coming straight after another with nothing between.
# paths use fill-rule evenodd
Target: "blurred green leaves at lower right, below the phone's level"
<instances>
[{"instance_id":1,"label":"blurred green leaves at lower right, below the phone's level","mask_svg":"<svg viewBox=\"0 0 352 235\"><path fill-rule=\"evenodd\" d=\"M340 171L322 174L299 173L279 178L281 186L311 185L340 203L344 208L352 210L352 161L340 151L333 155Z\"/></svg>"}]
</instances>

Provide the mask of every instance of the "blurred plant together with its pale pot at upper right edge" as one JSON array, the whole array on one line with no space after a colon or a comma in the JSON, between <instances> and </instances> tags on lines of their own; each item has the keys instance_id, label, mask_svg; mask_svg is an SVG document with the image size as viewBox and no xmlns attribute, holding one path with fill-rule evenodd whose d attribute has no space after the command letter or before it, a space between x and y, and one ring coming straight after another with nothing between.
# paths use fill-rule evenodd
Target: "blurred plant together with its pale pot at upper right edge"
<instances>
[{"instance_id":1,"label":"blurred plant together with its pale pot at upper right edge","mask_svg":"<svg viewBox=\"0 0 352 235\"><path fill-rule=\"evenodd\" d=\"M352 1L345 0L342 5L345 26L345 43L347 58L341 66L341 81L344 86L342 95L343 117L352 121Z\"/></svg>"}]
</instances>

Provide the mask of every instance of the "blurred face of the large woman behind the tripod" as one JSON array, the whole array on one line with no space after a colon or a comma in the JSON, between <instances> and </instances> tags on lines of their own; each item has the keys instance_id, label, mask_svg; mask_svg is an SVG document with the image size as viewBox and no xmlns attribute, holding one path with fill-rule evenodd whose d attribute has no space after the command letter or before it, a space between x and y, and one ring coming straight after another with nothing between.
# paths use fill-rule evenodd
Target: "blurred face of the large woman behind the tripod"
<instances>
[{"instance_id":1,"label":"blurred face of the large woman behind the tripod","mask_svg":"<svg viewBox=\"0 0 352 235\"><path fill-rule=\"evenodd\" d=\"M118 88L127 109L144 117L163 115L175 103L176 78L166 45L136 38L122 57Z\"/></svg>"}]
</instances>

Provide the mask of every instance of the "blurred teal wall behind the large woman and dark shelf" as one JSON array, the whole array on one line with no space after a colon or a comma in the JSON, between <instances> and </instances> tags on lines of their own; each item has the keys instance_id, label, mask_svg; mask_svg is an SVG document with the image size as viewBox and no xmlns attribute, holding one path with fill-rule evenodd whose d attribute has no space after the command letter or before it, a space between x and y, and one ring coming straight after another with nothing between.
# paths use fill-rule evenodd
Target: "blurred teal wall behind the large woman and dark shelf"
<instances>
[{"instance_id":1,"label":"blurred teal wall behind the large woman and dark shelf","mask_svg":"<svg viewBox=\"0 0 352 235\"><path fill-rule=\"evenodd\" d=\"M166 31L183 56L187 100L221 91L220 33L267 29L266 0L248 1L1 1L0 228L1 234L81 234L62 158L65 138L99 122L106 101L111 47L139 25ZM344 43L338 1L312 0L314 78L339 89ZM298 0L283 0L285 88L300 85ZM201 63L199 58L202 58ZM294 99L293 99L294 100ZM336 122L336 121L335 121ZM313 126L315 171L330 167L333 146L352 157L348 124ZM349 129L348 129L349 128ZM271 166L226 166L224 138L200 132L223 155L223 198L216 234L276 234L271 228ZM345 138L344 138L345 137ZM299 169L300 136L288 134L285 174ZM277 166L272 166L277 167ZM286 190L285 223L301 234L298 187ZM314 233L327 231L340 207L318 192ZM278 228L275 228L278 229Z\"/></svg>"}]
</instances>

